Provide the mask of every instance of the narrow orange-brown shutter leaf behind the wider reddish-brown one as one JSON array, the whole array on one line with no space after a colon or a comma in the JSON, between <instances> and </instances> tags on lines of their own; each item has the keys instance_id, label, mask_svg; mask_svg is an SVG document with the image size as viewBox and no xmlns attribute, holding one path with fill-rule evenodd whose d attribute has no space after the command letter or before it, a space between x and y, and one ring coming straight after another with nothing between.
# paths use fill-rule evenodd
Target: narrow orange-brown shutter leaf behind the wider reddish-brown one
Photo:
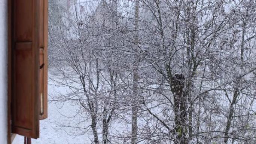
<instances>
[{"instance_id":1,"label":"narrow orange-brown shutter leaf behind the wider reddish-brown one","mask_svg":"<svg viewBox=\"0 0 256 144\"><path fill-rule=\"evenodd\" d=\"M48 71L48 0L40 0L39 16L39 99L40 119L47 118L47 71Z\"/></svg>"}]
</instances>

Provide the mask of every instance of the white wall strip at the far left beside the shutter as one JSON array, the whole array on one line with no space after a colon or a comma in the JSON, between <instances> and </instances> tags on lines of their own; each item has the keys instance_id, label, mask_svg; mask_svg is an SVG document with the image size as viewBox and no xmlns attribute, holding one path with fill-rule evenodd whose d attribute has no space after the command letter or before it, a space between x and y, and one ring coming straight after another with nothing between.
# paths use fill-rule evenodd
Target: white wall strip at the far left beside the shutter
<instances>
[{"instance_id":1,"label":"white wall strip at the far left beside the shutter","mask_svg":"<svg viewBox=\"0 0 256 144\"><path fill-rule=\"evenodd\" d=\"M0 0L0 143L7 144L7 0Z\"/></svg>"}]
</instances>

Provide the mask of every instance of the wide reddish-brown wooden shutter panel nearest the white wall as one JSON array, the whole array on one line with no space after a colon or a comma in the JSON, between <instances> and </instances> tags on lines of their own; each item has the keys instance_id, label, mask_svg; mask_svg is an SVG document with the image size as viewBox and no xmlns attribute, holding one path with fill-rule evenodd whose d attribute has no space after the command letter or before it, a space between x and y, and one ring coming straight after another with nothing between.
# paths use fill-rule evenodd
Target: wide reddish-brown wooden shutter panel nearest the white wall
<instances>
[{"instance_id":1,"label":"wide reddish-brown wooden shutter panel nearest the white wall","mask_svg":"<svg viewBox=\"0 0 256 144\"><path fill-rule=\"evenodd\" d=\"M12 0L12 133L39 138L39 0Z\"/></svg>"}]
</instances>

